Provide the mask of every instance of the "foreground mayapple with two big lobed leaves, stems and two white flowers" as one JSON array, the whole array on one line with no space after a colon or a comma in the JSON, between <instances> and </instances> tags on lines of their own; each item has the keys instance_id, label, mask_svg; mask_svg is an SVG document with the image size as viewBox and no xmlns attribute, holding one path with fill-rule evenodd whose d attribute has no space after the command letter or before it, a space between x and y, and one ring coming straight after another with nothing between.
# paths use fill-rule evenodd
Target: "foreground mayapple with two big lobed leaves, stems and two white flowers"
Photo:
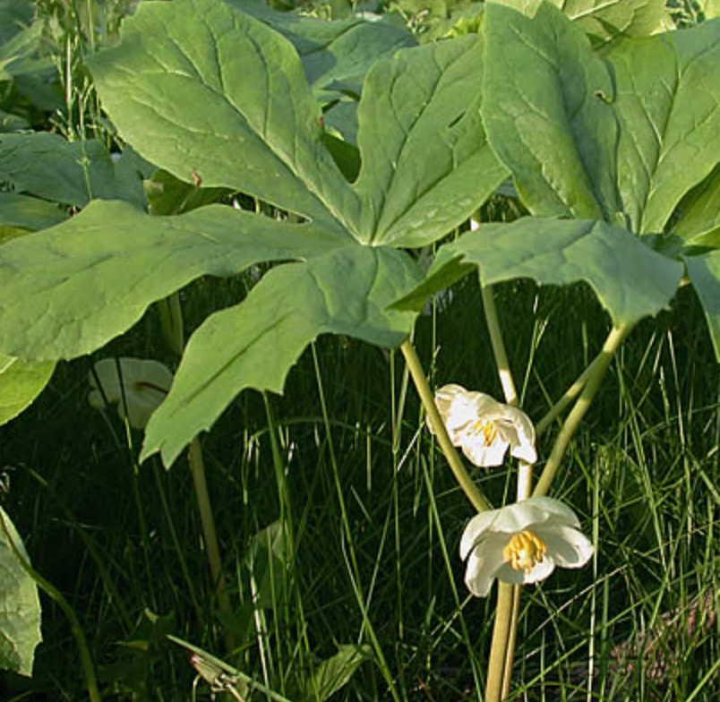
<instances>
[{"instance_id":1,"label":"foreground mayapple with two big lobed leaves, stems and two white flowers","mask_svg":"<svg viewBox=\"0 0 720 702\"><path fill-rule=\"evenodd\" d=\"M670 304L682 280L697 290L720 353L720 23L664 31L664 9L649 5L643 21L598 39L554 4L488 3L479 34L373 64L355 147L328 133L319 99L333 83L311 87L317 66L301 62L289 24L272 29L253 2L142 3L120 45L91 61L119 136L176 179L263 207L152 216L137 202L92 200L4 244L0 351L38 364L88 354L195 278L277 264L184 348L141 453L159 452L169 467L242 390L281 391L319 335L400 347L478 512L461 544L467 584L484 595L501 580L486 699L501 698L513 584L578 567L592 552L572 510L546 494L622 339ZM613 22L596 12L591 27L607 30ZM346 93L356 84L349 73L331 77ZM471 227L424 274L412 250L463 227L509 176L530 216ZM408 341L427 299L478 270L505 378L493 285L585 282L611 318L595 361L536 429L519 409L459 386L436 403ZM533 484L536 430L569 407ZM510 449L518 503L488 511L456 446L481 465L501 464Z\"/></svg>"}]
</instances>

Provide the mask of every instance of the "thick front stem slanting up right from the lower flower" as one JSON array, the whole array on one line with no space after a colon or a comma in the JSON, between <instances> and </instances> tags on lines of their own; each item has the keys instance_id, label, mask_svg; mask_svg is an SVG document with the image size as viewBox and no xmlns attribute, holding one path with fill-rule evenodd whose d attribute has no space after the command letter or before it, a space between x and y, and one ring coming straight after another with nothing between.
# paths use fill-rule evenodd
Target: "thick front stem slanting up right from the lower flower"
<instances>
[{"instance_id":1,"label":"thick front stem slanting up right from the lower flower","mask_svg":"<svg viewBox=\"0 0 720 702\"><path fill-rule=\"evenodd\" d=\"M553 478L560 467L565 450L570 444L570 439L572 439L575 432L578 431L579 424L590 408L590 404L593 398L595 398L597 390L600 388L600 383L603 381L605 372L613 360L615 352L620 347L622 339L630 333L631 329L631 324L621 324L613 327L605 339L603 350L588 367L585 387L580 393L580 397L575 403L575 406L570 411L570 415L568 415L565 423L562 424L562 429L558 434L558 438L555 440L553 450L550 452L550 458L547 459L543 474L540 475L540 480L537 482L535 492L533 492L533 495L536 497L546 495L550 491Z\"/></svg>"}]
</instances>

